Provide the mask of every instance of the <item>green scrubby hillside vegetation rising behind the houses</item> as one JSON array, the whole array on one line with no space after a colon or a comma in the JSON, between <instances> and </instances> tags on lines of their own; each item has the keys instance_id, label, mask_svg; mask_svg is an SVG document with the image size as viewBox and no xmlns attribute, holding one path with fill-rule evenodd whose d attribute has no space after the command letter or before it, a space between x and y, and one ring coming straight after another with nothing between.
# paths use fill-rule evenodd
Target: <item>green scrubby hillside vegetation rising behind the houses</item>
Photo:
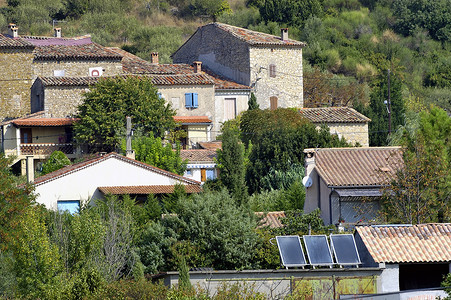
<instances>
[{"instance_id":1,"label":"green scrubby hillside vegetation rising behind the houses","mask_svg":"<svg viewBox=\"0 0 451 300\"><path fill-rule=\"evenodd\" d=\"M1 28L15 22L20 34L51 35L57 20L63 35L89 33L144 59L158 51L163 63L211 21L276 35L289 27L291 38L308 44L307 106L366 112L390 69L409 109L434 103L451 110L451 0L7 0L0 6Z\"/></svg>"}]
</instances>

